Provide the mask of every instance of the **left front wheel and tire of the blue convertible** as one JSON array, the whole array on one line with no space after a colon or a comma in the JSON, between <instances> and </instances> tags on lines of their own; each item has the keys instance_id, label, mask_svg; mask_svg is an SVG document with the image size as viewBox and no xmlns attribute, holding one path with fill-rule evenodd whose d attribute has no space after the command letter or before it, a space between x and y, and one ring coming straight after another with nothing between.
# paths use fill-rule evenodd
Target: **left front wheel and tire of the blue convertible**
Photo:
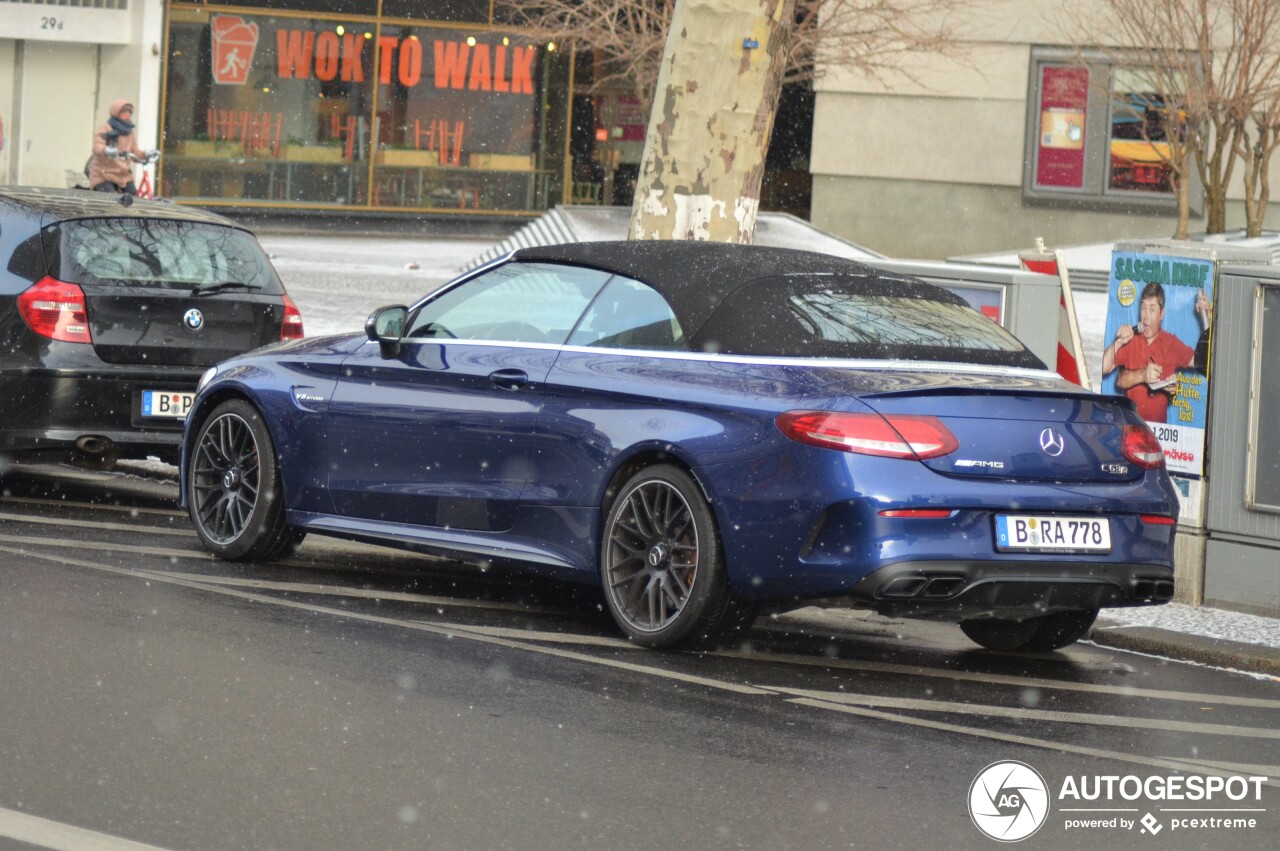
<instances>
[{"instance_id":1,"label":"left front wheel and tire of the blue convertible","mask_svg":"<svg viewBox=\"0 0 1280 851\"><path fill-rule=\"evenodd\" d=\"M201 543L233 562L287 558L306 532L284 522L284 490L262 416L244 399L223 402L200 425L187 504Z\"/></svg>"}]
</instances>

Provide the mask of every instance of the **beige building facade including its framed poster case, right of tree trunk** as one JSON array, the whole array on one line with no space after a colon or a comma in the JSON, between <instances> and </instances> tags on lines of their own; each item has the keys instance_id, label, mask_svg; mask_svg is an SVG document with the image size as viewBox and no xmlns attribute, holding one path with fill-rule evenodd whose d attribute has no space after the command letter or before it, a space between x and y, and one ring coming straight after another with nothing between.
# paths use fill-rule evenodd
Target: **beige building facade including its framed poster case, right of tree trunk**
<instances>
[{"instance_id":1,"label":"beige building facade including its framed poster case, right of tree trunk","mask_svg":"<svg viewBox=\"0 0 1280 851\"><path fill-rule=\"evenodd\" d=\"M1092 0L1073 4L1076 15ZM1123 67L1071 47L1059 0L956 15L960 55L883 79L826 69L813 134L814 224L891 256L1172 235L1161 114ZM1229 227L1243 227L1240 173ZM1277 173L1272 180L1280 179ZM1272 205L1270 220L1280 223ZM1192 230L1203 228L1192 187Z\"/></svg>"}]
</instances>

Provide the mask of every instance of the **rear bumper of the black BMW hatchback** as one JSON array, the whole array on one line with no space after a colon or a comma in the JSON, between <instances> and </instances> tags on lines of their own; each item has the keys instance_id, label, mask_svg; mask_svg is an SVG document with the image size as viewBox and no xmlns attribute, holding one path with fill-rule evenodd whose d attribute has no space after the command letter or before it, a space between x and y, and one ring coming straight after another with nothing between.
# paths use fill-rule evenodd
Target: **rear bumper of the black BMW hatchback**
<instances>
[{"instance_id":1,"label":"rear bumper of the black BMW hatchback","mask_svg":"<svg viewBox=\"0 0 1280 851\"><path fill-rule=\"evenodd\" d=\"M142 416L142 390L193 393L197 370L0 372L0 452L156 454L177 458L179 418ZM79 445L78 445L79 444Z\"/></svg>"}]
</instances>

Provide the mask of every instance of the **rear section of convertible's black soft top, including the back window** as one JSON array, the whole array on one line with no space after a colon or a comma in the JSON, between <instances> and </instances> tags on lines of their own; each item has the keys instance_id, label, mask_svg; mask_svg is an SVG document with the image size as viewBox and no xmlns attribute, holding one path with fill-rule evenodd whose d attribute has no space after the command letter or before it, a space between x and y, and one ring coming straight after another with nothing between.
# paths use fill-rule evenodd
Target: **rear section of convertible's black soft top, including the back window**
<instances>
[{"instance_id":1,"label":"rear section of convertible's black soft top, including the back window","mask_svg":"<svg viewBox=\"0 0 1280 851\"><path fill-rule=\"evenodd\" d=\"M905 278L787 275L730 293L695 348L726 354L1043 367L1012 334L941 287Z\"/></svg>"}]
</instances>

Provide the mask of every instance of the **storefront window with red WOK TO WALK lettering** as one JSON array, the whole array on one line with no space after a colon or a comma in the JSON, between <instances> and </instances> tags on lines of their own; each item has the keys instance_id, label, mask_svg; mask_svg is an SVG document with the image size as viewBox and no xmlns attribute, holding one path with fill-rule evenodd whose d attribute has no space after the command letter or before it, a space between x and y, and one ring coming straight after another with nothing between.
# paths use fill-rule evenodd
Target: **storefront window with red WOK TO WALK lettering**
<instances>
[{"instance_id":1,"label":"storefront window with red WOK TO WALK lettering","mask_svg":"<svg viewBox=\"0 0 1280 851\"><path fill-rule=\"evenodd\" d=\"M170 6L161 192L301 209L526 212L558 202L568 58L490 29L488 0L399 5L384 0L381 19ZM481 20L387 14L410 6Z\"/></svg>"}]
</instances>

